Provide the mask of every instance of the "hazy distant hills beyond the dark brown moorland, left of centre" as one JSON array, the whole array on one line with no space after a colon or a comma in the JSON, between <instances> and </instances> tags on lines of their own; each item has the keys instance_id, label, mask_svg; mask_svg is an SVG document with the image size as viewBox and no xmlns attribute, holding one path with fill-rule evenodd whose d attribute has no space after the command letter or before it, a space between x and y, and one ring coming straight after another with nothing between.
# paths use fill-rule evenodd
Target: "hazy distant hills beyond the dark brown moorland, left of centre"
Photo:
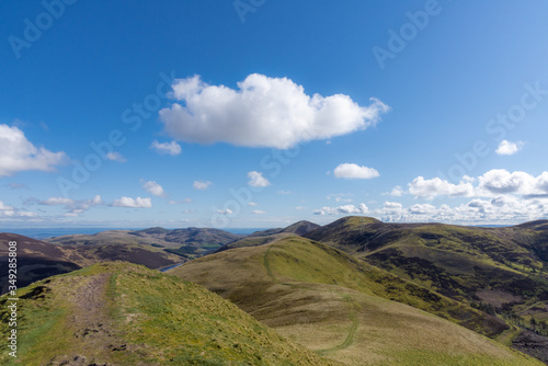
<instances>
[{"instance_id":1,"label":"hazy distant hills beyond the dark brown moorland, left of centre","mask_svg":"<svg viewBox=\"0 0 548 366\"><path fill-rule=\"evenodd\" d=\"M144 230L107 230L94 235L70 235L47 239L47 242L62 245L140 244L161 248L165 252L187 259L199 256L243 236L219 229L186 228Z\"/></svg>"}]
</instances>

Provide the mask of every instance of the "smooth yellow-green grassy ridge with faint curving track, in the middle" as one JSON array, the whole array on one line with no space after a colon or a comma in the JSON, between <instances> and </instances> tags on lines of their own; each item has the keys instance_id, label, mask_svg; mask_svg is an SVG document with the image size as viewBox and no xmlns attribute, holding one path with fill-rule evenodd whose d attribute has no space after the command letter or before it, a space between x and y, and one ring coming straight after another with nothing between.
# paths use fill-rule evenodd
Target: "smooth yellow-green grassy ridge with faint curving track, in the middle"
<instances>
[{"instance_id":1,"label":"smooth yellow-green grassy ridge with faint curving track, in the middle","mask_svg":"<svg viewBox=\"0 0 548 366\"><path fill-rule=\"evenodd\" d=\"M496 332L496 319L304 238L210 254L169 273L346 365L541 365L454 323Z\"/></svg>"}]
</instances>

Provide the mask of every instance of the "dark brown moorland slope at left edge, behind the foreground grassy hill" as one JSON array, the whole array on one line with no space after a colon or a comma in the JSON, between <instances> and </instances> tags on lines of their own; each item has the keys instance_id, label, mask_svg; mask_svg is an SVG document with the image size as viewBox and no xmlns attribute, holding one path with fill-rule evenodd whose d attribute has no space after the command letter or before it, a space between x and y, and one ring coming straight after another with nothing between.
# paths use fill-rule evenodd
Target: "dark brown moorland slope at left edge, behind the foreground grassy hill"
<instances>
[{"instance_id":1,"label":"dark brown moorland slope at left edge, behind the foreground grassy hill","mask_svg":"<svg viewBox=\"0 0 548 366\"><path fill-rule=\"evenodd\" d=\"M0 261L8 263L8 242L18 243L18 283L27 286L35 281L67 273L105 261L127 261L160 268L184 260L150 245L116 243L103 245L56 245L15 233L0 233ZM0 268L0 294L8 288L8 266Z\"/></svg>"}]
</instances>

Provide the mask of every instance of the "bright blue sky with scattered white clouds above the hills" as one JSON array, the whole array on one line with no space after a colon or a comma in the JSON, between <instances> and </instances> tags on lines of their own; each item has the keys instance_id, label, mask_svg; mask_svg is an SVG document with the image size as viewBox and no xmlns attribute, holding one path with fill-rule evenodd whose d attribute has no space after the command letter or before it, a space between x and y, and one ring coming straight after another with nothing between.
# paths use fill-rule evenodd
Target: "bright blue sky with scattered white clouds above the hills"
<instances>
[{"instance_id":1,"label":"bright blue sky with scattered white clouds above the hills","mask_svg":"<svg viewBox=\"0 0 548 366\"><path fill-rule=\"evenodd\" d=\"M546 1L4 1L0 225L548 217Z\"/></svg>"}]
</instances>

